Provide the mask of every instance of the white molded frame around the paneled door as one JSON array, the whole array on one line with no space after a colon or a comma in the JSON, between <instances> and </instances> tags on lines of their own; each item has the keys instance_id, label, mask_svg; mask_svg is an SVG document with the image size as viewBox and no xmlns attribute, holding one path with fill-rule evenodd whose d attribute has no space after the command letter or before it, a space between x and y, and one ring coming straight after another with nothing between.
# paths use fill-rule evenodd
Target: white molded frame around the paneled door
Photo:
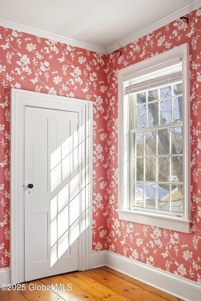
<instances>
[{"instance_id":1,"label":"white molded frame around the paneled door","mask_svg":"<svg viewBox=\"0 0 201 301\"><path fill-rule=\"evenodd\" d=\"M24 282L24 109L25 106L79 114L81 153L79 270L92 268L92 131L93 102L11 89L10 249L11 283Z\"/></svg>"}]
</instances>

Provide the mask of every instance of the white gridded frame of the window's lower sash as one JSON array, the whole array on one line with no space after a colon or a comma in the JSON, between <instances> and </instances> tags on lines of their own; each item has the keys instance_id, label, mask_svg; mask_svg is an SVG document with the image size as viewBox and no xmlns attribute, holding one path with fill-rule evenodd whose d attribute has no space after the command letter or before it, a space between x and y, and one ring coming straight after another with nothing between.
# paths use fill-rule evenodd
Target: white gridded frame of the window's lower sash
<instances>
[{"instance_id":1,"label":"white gridded frame of the window's lower sash","mask_svg":"<svg viewBox=\"0 0 201 301\"><path fill-rule=\"evenodd\" d=\"M179 187L183 187L183 180L182 179L178 179L177 178L177 172L173 172L173 162L171 160L174 160L174 157L177 157L178 162L182 161L182 166L183 166L183 152L179 153L179 154L171 154L171 140L172 140L172 129L176 129L176 128L182 128L182 122L180 122L179 124L172 124L172 126L170 124L168 124L168 127L164 127L164 126L158 126L158 127L152 127L150 128L146 128L146 129L133 129L130 130L130 209L133 210L148 210L146 209L146 199L148 196L148 193L145 193L145 186L146 185L150 185L150 189L153 193L153 189L155 186L155 209L151 209L149 211L153 211L155 213L158 214L169 214L169 215L173 215L173 216L177 216L177 217L183 217L183 212L182 210L175 210L173 208L173 204L174 206L176 206L176 204L178 205L178 208L181 209L183 208L183 195L182 195L182 201L181 199L179 199L178 197L181 198L181 194L178 193L178 188ZM159 138L158 138L158 130L161 129L169 129L169 153L168 154L160 154L160 151L158 149L159 147ZM182 129L181 129L182 130ZM156 139L156 143L155 143L155 150L154 150L154 154L149 154L146 153L145 148L146 148L146 133L148 132L154 132L155 131L155 139ZM136 134L138 133L142 133L142 147L143 147L143 153L140 154L137 152L136 150ZM180 159L179 159L180 158ZM147 166L146 166L146 160L150 161L150 160L155 160L154 162L154 166L152 166L152 171L155 168L154 171L154 179L147 179L146 178L146 171L147 171ZM160 179L160 160L165 160L166 164L168 163L167 170L166 170L166 180L161 180ZM142 166L143 166L143 171L141 171L142 175L138 175L138 170L137 170L137 162L139 162ZM149 167L148 167L149 168ZM140 172L140 171L139 171ZM164 174L163 174L164 176ZM181 181L182 180L182 181ZM135 199L137 197L137 191L136 191L136 185L142 185L141 188L139 189L143 189L143 198L141 199L143 201L143 205L139 206L137 203L137 200ZM148 184L149 183L149 184ZM168 186L167 188L160 188L163 186ZM172 191L174 190L174 188L177 187L177 191L174 191L174 195L172 194ZM166 192L166 198L169 198L169 201L166 201L166 204L169 204L169 209L163 209L160 210L160 208L158 208L157 203L159 202L159 195L158 192L159 190L163 190L163 192L161 193L165 193ZM165 190L166 189L166 190ZM165 196L165 195L164 195ZM178 200L176 199L178 198ZM154 199L154 198L153 198ZM160 196L161 199L161 196ZM173 199L174 199L174 203L173 203ZM161 202L161 201L160 201Z\"/></svg>"}]
</instances>

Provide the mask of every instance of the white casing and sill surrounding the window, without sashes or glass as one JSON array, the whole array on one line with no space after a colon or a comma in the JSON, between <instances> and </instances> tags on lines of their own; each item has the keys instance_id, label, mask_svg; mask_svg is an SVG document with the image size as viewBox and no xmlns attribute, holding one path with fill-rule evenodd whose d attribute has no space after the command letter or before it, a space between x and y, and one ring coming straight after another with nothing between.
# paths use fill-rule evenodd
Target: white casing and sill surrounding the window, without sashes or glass
<instances>
[{"instance_id":1,"label":"white casing and sill surrounding the window, without sashes or glass","mask_svg":"<svg viewBox=\"0 0 201 301\"><path fill-rule=\"evenodd\" d=\"M183 217L130 210L130 129L128 126L128 99L124 99L123 83L170 65L170 61L182 60L183 102ZM119 152L119 219L190 233L190 88L189 44L177 46L147 60L118 71L118 152ZM151 210L150 210L151 211Z\"/></svg>"}]
</instances>

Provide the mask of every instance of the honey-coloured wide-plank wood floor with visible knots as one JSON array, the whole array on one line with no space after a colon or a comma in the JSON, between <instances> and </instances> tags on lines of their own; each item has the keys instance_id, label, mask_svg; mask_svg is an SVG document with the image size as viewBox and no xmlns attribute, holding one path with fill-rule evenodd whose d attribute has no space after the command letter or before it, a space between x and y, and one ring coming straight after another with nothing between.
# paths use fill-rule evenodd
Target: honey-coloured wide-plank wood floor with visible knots
<instances>
[{"instance_id":1,"label":"honey-coloured wide-plank wood floor with visible knots","mask_svg":"<svg viewBox=\"0 0 201 301\"><path fill-rule=\"evenodd\" d=\"M109 267L46 277L17 287L21 290L0 290L0 301L181 300Z\"/></svg>"}]
</instances>

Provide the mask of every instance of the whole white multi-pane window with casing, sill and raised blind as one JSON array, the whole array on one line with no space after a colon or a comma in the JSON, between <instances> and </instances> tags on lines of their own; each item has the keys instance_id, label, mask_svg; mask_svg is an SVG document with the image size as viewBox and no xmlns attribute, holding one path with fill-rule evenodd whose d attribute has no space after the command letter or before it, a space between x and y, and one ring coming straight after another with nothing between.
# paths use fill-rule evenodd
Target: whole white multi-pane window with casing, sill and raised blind
<instances>
[{"instance_id":1,"label":"whole white multi-pane window with casing, sill and raised blind","mask_svg":"<svg viewBox=\"0 0 201 301\"><path fill-rule=\"evenodd\" d=\"M119 218L189 233L189 50L119 71Z\"/></svg>"}]
</instances>

